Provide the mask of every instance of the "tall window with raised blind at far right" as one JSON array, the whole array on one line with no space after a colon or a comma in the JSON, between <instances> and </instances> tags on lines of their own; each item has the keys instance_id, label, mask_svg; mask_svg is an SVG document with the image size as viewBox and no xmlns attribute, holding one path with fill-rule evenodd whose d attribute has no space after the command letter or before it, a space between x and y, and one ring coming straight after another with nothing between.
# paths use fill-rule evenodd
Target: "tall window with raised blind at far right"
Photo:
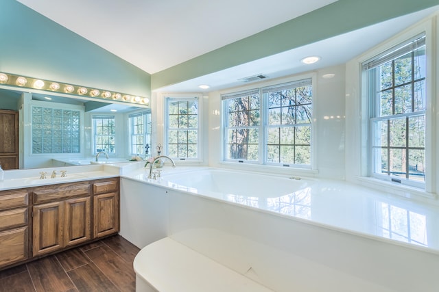
<instances>
[{"instance_id":1,"label":"tall window with raised blind at far right","mask_svg":"<svg viewBox=\"0 0 439 292\"><path fill-rule=\"evenodd\" d=\"M372 176L425 186L425 36L364 64Z\"/></svg>"}]
</instances>

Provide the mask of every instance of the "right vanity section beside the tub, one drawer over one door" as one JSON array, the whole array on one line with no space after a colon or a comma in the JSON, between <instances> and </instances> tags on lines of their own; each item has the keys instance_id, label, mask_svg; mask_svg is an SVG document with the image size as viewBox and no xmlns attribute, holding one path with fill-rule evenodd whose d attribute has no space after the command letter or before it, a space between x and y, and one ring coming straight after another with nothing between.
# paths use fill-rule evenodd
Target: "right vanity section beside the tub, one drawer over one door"
<instances>
[{"instance_id":1,"label":"right vanity section beside the tub, one drawer over one door","mask_svg":"<svg viewBox=\"0 0 439 292\"><path fill-rule=\"evenodd\" d=\"M119 232L119 179L93 183L93 238Z\"/></svg>"}]
</instances>

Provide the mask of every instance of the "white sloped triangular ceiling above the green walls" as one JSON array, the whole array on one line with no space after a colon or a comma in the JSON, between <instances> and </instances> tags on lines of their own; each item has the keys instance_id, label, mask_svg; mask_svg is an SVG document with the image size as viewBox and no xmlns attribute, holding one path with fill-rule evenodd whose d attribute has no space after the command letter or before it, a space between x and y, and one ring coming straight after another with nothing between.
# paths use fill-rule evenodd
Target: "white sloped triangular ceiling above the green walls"
<instances>
[{"instance_id":1,"label":"white sloped triangular ceiling above the green walls","mask_svg":"<svg viewBox=\"0 0 439 292\"><path fill-rule=\"evenodd\" d=\"M150 74L335 2L18 1Z\"/></svg>"}]
</instances>

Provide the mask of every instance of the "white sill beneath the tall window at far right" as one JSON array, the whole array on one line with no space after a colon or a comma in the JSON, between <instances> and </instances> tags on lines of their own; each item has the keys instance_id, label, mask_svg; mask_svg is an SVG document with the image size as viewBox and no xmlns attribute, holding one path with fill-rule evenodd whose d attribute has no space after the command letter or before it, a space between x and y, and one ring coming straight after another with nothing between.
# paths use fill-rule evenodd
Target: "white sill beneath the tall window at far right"
<instances>
[{"instance_id":1,"label":"white sill beneath the tall window at far right","mask_svg":"<svg viewBox=\"0 0 439 292\"><path fill-rule=\"evenodd\" d=\"M437 194L429 193L423 189L418 189L416 187L410 187L408 185L400 185L399 183L392 183L390 181L381 181L377 178L371 178L368 176L357 176L357 183L364 185L365 187L370 187L372 189L378 189L388 194L403 196L405 198L412 199L432 199L436 200L438 198Z\"/></svg>"}]
</instances>

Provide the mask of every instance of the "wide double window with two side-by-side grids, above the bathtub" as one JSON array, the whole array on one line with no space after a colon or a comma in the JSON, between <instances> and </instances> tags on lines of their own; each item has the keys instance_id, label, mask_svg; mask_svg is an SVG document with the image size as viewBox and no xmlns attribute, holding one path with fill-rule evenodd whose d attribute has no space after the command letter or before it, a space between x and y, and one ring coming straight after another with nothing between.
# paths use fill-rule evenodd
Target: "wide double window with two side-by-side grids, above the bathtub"
<instances>
[{"instance_id":1,"label":"wide double window with two side-by-side grids, above the bathtub","mask_svg":"<svg viewBox=\"0 0 439 292\"><path fill-rule=\"evenodd\" d=\"M225 160L311 167L311 79L223 94L222 100Z\"/></svg>"}]
</instances>

